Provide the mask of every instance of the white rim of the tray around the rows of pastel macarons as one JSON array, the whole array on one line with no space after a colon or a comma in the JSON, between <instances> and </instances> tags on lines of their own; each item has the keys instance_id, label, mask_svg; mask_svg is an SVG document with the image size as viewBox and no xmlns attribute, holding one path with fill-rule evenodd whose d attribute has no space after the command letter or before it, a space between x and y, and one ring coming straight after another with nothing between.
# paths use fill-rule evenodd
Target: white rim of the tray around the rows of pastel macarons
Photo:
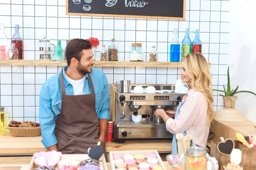
<instances>
[{"instance_id":1,"label":"white rim of the tray around the rows of pastel macarons","mask_svg":"<svg viewBox=\"0 0 256 170\"><path fill-rule=\"evenodd\" d=\"M129 150L129 151L110 151L109 152L109 160L111 163L111 170L116 170L115 164L114 164L114 159L113 159L113 155L116 153L121 153L123 155L136 155L136 154L147 154L147 153L154 153L157 156L158 159L158 164L163 167L163 170L166 170L166 167L163 164L163 161L159 155L159 153L157 152L157 150Z\"/></svg>"}]
</instances>

